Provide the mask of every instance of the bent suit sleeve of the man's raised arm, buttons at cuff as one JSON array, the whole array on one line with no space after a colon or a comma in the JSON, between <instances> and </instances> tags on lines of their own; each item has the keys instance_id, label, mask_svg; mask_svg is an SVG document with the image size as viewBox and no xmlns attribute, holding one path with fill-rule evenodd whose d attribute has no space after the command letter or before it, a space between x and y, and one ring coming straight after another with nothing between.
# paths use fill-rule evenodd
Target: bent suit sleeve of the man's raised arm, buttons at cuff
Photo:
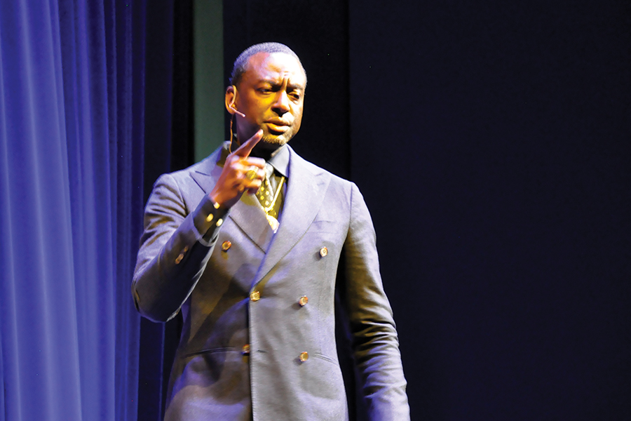
<instances>
[{"instance_id":1,"label":"bent suit sleeve of the man's raised arm, buttons at cuff","mask_svg":"<svg viewBox=\"0 0 631 421\"><path fill-rule=\"evenodd\" d=\"M153 321L177 314L203 273L224 217L208 194L189 213L173 175L158 178L144 210L132 283L140 314Z\"/></svg>"}]
</instances>

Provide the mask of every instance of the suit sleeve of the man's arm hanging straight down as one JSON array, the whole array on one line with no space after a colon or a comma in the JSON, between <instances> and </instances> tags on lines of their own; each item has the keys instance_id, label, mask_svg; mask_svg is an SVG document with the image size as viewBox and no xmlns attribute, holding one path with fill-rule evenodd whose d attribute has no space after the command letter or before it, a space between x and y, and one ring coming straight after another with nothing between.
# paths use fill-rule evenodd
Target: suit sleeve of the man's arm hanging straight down
<instances>
[{"instance_id":1,"label":"suit sleeve of the man's arm hanging straight down","mask_svg":"<svg viewBox=\"0 0 631 421\"><path fill-rule=\"evenodd\" d=\"M344 243L344 295L353 356L371 420L409 420L399 342L379 274L376 237L368 208L351 189L351 220Z\"/></svg>"}]
</instances>

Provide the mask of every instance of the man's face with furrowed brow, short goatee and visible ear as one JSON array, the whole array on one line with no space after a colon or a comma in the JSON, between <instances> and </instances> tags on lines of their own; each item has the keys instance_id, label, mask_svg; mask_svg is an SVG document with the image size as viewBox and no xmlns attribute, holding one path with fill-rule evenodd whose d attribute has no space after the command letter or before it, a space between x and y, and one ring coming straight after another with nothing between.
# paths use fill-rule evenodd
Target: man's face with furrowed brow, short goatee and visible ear
<instances>
[{"instance_id":1,"label":"man's face with furrowed brow, short goatee and visible ear","mask_svg":"<svg viewBox=\"0 0 631 421\"><path fill-rule=\"evenodd\" d=\"M238 140L245 142L262 128L257 147L277 149L289 142L300 128L305 86L304 71L292 55L252 55L233 93L234 107L245 114L236 116Z\"/></svg>"}]
</instances>

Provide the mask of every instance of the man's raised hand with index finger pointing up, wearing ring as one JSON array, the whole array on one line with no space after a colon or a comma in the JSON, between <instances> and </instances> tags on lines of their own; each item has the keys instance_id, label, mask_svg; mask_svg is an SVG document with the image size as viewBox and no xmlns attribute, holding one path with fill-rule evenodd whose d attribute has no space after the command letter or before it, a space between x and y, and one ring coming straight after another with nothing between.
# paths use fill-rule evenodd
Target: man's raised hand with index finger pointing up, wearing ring
<instances>
[{"instance_id":1,"label":"man's raised hand with index finger pointing up, wearing ring","mask_svg":"<svg viewBox=\"0 0 631 421\"><path fill-rule=\"evenodd\" d=\"M255 194L265 178L265 160L250 156L250 152L263 137L259 130L252 138L226 157L224 169L210 192L210 199L219 206L231 208L244 192ZM249 177L248 177L249 175Z\"/></svg>"}]
</instances>

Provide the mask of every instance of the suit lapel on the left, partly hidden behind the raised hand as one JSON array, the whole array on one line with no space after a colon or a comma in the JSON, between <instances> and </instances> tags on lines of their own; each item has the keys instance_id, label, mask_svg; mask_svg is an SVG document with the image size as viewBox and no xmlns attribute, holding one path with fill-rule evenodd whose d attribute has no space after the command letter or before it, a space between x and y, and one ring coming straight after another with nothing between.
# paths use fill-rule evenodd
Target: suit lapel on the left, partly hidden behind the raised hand
<instances>
[{"instance_id":1,"label":"suit lapel on the left, partly hidden behind the raised hand","mask_svg":"<svg viewBox=\"0 0 631 421\"><path fill-rule=\"evenodd\" d=\"M215 187L219 175L222 173L222 167L217 165L217 161L221 157L221 150L221 148L217 149L200 163L196 171L191 171L191 177L206 194ZM255 196L243 194L241 200L235 203L228 215L261 250L264 252L267 250L273 231Z\"/></svg>"}]
</instances>

